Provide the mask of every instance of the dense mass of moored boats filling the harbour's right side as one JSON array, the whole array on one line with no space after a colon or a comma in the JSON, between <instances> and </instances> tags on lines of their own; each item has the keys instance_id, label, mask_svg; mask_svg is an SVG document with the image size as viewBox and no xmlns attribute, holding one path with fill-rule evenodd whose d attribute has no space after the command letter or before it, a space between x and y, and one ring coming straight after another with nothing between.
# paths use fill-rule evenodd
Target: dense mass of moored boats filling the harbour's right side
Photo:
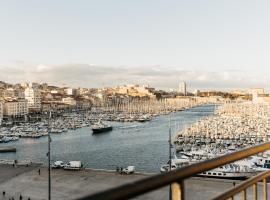
<instances>
[{"instance_id":1,"label":"dense mass of moored boats filling the harbour's right side","mask_svg":"<svg viewBox=\"0 0 270 200\"><path fill-rule=\"evenodd\" d=\"M216 110L216 115L199 120L176 135L175 154L160 171L174 170L269 141L269 120L269 105L224 104ZM198 176L246 179L269 169L270 151L266 151Z\"/></svg>"}]
</instances>

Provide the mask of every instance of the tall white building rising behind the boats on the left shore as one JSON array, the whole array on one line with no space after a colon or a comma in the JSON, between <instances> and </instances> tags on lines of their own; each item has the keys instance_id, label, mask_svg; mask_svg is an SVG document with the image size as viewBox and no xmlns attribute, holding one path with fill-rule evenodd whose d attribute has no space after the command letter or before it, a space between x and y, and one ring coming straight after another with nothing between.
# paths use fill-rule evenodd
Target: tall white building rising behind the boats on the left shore
<instances>
[{"instance_id":1,"label":"tall white building rising behind the boats on the left shore","mask_svg":"<svg viewBox=\"0 0 270 200\"><path fill-rule=\"evenodd\" d=\"M39 89L27 87L24 91L25 99L28 101L28 109L39 111L41 109L41 92Z\"/></svg>"}]
</instances>

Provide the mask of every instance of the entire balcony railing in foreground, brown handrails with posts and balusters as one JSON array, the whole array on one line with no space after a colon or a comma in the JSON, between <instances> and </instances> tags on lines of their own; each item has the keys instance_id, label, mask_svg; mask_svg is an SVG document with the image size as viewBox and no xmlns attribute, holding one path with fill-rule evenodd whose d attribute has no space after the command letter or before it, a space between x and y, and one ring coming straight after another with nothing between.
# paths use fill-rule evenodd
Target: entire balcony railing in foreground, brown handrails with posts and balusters
<instances>
[{"instance_id":1,"label":"entire balcony railing in foreground, brown handrails with posts and balusters","mask_svg":"<svg viewBox=\"0 0 270 200\"><path fill-rule=\"evenodd\" d=\"M168 173L155 175L136 182L128 183L116 188L112 188L96 194L90 194L79 200L122 200L133 198L153 190L160 189L164 186L171 185L172 199L185 199L185 179L196 174L215 169L217 167L247 158L249 156L264 152L270 149L270 142L249 147L237 152L226 154L203 162L195 163ZM253 185L254 199L257 199L257 183L263 180L264 183L264 199L267 199L267 183L266 178L270 176L270 171L263 172L245 182L242 182L235 188L232 188L214 198L215 200L233 199L234 195L242 192L243 199L246 199L246 189Z\"/></svg>"}]
</instances>

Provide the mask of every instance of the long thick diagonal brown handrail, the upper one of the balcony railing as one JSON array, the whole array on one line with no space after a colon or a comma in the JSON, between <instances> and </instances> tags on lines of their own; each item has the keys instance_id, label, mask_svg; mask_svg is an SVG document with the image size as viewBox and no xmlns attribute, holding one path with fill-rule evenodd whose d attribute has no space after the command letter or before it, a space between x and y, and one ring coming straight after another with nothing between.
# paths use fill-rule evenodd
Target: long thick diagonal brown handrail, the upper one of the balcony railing
<instances>
[{"instance_id":1,"label":"long thick diagonal brown handrail, the upper one of the balcony railing","mask_svg":"<svg viewBox=\"0 0 270 200\"><path fill-rule=\"evenodd\" d=\"M195 163L177 170L173 170L164 174L154 175L142 180L127 183L116 188L102 191L96 194L90 194L79 200L118 200L128 199L142 195L144 193L159 189L170 185L174 182L181 182L193 175L215 169L217 167L244 159L246 157L264 152L270 149L270 142L259 144L253 147L245 148L230 154L225 154L203 162Z\"/></svg>"}]
</instances>

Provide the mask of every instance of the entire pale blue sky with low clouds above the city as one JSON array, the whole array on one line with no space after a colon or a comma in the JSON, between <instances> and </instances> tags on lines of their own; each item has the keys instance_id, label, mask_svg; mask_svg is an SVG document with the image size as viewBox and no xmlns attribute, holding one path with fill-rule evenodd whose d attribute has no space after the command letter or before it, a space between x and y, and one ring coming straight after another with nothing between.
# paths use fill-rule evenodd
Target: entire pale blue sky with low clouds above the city
<instances>
[{"instance_id":1,"label":"entire pale blue sky with low clouds above the city","mask_svg":"<svg viewBox=\"0 0 270 200\"><path fill-rule=\"evenodd\" d=\"M270 2L0 1L0 80L269 87Z\"/></svg>"}]
</instances>

